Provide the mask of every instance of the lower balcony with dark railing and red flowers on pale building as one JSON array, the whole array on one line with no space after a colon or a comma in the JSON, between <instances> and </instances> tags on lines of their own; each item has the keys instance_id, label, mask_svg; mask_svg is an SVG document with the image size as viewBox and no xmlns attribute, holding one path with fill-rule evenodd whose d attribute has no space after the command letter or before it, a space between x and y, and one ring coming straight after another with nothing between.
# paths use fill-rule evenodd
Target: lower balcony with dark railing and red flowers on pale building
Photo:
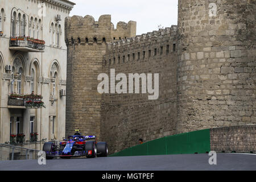
<instances>
[{"instance_id":1,"label":"lower balcony with dark railing and red flowers on pale building","mask_svg":"<svg viewBox=\"0 0 256 182\"><path fill-rule=\"evenodd\" d=\"M8 98L9 109L39 109L46 107L42 96L11 94Z\"/></svg>"}]
</instances>

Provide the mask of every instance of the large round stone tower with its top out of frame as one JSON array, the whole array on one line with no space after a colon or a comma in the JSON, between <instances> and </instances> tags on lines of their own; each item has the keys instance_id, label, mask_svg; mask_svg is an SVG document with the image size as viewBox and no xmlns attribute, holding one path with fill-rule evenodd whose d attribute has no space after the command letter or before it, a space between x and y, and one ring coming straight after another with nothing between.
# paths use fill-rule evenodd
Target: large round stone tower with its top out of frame
<instances>
[{"instance_id":1,"label":"large round stone tower with its top out of frame","mask_svg":"<svg viewBox=\"0 0 256 182\"><path fill-rule=\"evenodd\" d=\"M255 123L255 6L179 0L179 133Z\"/></svg>"}]
</instances>

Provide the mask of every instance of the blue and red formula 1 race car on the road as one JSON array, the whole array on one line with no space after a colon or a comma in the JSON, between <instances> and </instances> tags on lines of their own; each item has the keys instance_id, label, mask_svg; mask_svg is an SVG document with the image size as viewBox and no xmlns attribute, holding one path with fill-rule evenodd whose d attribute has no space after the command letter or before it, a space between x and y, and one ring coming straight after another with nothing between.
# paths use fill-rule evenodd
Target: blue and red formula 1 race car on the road
<instances>
[{"instance_id":1,"label":"blue and red formula 1 race car on the road","mask_svg":"<svg viewBox=\"0 0 256 182\"><path fill-rule=\"evenodd\" d=\"M108 156L108 144L106 142L97 142L95 135L81 136L76 133L69 136L68 139L64 139L57 146L52 142L44 143L43 151L46 152L46 159L80 156L86 156L86 158L106 157Z\"/></svg>"}]
</instances>

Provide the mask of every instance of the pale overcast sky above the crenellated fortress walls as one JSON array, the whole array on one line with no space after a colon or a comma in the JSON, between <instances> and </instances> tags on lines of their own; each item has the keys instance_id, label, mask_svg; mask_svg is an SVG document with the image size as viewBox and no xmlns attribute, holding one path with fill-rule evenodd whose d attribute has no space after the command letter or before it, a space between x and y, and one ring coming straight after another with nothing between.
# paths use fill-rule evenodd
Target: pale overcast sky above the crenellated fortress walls
<instances>
[{"instance_id":1,"label":"pale overcast sky above the crenellated fortress walls","mask_svg":"<svg viewBox=\"0 0 256 182\"><path fill-rule=\"evenodd\" d=\"M71 0L76 5L71 11L72 15L92 15L97 21L100 15L112 15L112 23L137 22L137 35L158 30L158 26L171 27L177 24L178 0Z\"/></svg>"}]
</instances>

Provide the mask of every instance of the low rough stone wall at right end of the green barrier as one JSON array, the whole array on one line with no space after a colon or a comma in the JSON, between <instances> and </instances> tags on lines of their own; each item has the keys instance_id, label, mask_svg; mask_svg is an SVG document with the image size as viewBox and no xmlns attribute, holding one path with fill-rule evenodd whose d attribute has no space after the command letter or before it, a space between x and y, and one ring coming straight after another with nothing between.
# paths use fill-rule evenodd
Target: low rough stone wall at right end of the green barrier
<instances>
[{"instance_id":1,"label":"low rough stone wall at right end of the green barrier","mask_svg":"<svg viewBox=\"0 0 256 182\"><path fill-rule=\"evenodd\" d=\"M256 125L210 129L210 150L255 153Z\"/></svg>"}]
</instances>

